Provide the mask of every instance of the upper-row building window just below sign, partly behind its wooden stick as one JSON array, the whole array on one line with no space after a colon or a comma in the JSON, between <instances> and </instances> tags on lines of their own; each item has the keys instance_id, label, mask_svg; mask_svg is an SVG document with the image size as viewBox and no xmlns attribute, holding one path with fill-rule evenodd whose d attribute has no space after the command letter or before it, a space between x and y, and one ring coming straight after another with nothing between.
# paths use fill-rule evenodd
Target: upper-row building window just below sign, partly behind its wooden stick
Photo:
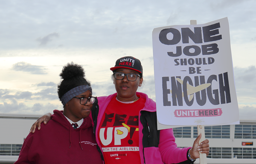
<instances>
[{"instance_id":1,"label":"upper-row building window just below sign, partly behind its wooden stick","mask_svg":"<svg viewBox=\"0 0 256 164\"><path fill-rule=\"evenodd\" d=\"M194 127L194 138L197 138L197 127ZM207 139L230 139L230 125L205 126L205 138Z\"/></svg>"}]
</instances>

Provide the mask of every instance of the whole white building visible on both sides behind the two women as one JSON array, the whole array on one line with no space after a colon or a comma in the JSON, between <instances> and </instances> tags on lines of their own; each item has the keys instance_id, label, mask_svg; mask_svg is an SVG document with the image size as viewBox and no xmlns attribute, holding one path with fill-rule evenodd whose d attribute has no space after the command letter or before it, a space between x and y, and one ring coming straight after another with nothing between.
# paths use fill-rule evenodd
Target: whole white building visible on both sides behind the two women
<instances>
[{"instance_id":1,"label":"whole white building visible on both sides behind the two women","mask_svg":"<svg viewBox=\"0 0 256 164\"><path fill-rule=\"evenodd\" d=\"M0 113L0 163L13 164L30 127L40 115ZM197 127L174 128L178 147L192 147ZM205 127L210 154L207 164L256 164L256 121ZM199 163L196 160L195 163Z\"/></svg>"}]
</instances>

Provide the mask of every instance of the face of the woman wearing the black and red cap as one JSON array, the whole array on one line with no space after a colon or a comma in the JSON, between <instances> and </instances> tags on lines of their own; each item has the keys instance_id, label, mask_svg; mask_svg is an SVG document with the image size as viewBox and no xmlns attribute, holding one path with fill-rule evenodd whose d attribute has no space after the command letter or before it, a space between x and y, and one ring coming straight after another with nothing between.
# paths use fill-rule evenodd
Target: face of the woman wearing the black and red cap
<instances>
[{"instance_id":1,"label":"face of the woman wearing the black and red cap","mask_svg":"<svg viewBox=\"0 0 256 164\"><path fill-rule=\"evenodd\" d=\"M119 68L114 72L121 72L124 74L140 74L137 71L127 69L127 68ZM117 92L117 99L123 102L134 101L136 96L136 91L143 82L143 78L137 76L136 81L129 81L127 76L125 76L122 80L118 80L114 78L114 84Z\"/></svg>"}]
</instances>

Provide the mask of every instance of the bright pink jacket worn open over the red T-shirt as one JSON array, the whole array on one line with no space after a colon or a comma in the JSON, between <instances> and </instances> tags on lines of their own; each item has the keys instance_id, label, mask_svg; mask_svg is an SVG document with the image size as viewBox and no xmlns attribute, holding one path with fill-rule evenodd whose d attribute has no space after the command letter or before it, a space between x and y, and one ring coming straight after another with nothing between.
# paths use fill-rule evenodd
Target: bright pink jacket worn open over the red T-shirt
<instances>
[{"instance_id":1,"label":"bright pink jacket worn open over the red T-shirt","mask_svg":"<svg viewBox=\"0 0 256 164\"><path fill-rule=\"evenodd\" d=\"M99 122L102 119L102 116L105 113L105 109L108 106L111 99L116 96L117 93L109 96L102 96L98 97L98 104L99 104L99 114L98 114L98 126L96 126L96 141L102 150L101 145L99 144L98 138L98 129L99 129ZM141 164L177 164L182 162L182 164L190 164L193 163L187 158L187 152L190 147L186 148L178 148L177 144L175 143L175 137L173 135L172 129L160 130L160 137L159 137L159 144L158 147L147 146L143 145L143 124L141 122L141 113L142 111L148 111L148 113L156 112L156 103L149 99L145 93L137 92L137 95L140 95L142 98L146 99L145 106L139 113L139 148L140 148L140 160ZM149 123L148 123L149 124ZM149 126L149 125L148 125ZM156 127L156 126L155 126ZM150 130L151 131L151 130ZM157 131L157 130L156 130ZM158 131L159 132L159 131ZM146 136L148 138L149 136ZM147 141L148 142L148 141ZM144 142L145 143L145 142ZM143 151L142 151L143 150Z\"/></svg>"}]
</instances>

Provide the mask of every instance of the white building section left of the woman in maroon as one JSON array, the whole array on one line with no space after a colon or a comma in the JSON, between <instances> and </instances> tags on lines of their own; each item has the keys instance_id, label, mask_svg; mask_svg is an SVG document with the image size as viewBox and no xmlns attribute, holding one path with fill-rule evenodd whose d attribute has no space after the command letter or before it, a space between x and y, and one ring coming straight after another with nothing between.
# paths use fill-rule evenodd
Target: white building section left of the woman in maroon
<instances>
[{"instance_id":1,"label":"white building section left of the woman in maroon","mask_svg":"<svg viewBox=\"0 0 256 164\"><path fill-rule=\"evenodd\" d=\"M40 115L0 113L0 163L17 161L30 127Z\"/></svg>"}]
</instances>

